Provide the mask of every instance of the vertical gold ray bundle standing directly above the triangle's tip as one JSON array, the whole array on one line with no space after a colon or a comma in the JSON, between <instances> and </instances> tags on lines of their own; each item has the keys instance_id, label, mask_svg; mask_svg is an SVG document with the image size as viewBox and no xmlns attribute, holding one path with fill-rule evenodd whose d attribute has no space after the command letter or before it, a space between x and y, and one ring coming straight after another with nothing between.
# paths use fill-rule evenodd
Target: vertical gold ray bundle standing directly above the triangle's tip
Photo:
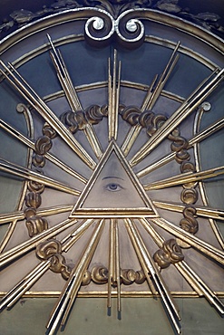
<instances>
[{"instance_id":1,"label":"vertical gold ray bundle standing directly above the triangle's tip","mask_svg":"<svg viewBox=\"0 0 224 335\"><path fill-rule=\"evenodd\" d=\"M108 129L109 141L117 139L118 131L118 109L120 100L121 86L121 67L122 62L117 65L117 50L113 53L113 73L111 72L111 59L108 60ZM117 74L118 66L118 74Z\"/></svg>"}]
</instances>

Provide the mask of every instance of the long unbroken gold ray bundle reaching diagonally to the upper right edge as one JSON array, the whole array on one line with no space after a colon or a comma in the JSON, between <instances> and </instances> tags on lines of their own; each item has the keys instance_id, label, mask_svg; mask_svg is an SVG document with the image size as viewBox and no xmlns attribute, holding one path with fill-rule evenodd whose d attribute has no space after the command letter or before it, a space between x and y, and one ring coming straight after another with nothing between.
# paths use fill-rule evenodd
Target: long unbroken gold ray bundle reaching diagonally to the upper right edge
<instances>
[{"instance_id":1,"label":"long unbroken gold ray bundle reaching diagonally to the upper right edge","mask_svg":"<svg viewBox=\"0 0 224 335\"><path fill-rule=\"evenodd\" d=\"M217 70L215 71L217 72ZM214 91L219 85L220 81L223 80L224 69L222 69L212 80L210 78L215 74L212 72L209 77L202 81L195 91L190 94L190 97L184 101L181 106L170 116L170 118L164 122L160 129L149 139L131 158L131 167L138 164L143 158L151 153L163 139L165 139L170 132L179 126L182 120L185 120L190 113L195 110L202 101L204 101L209 94ZM208 83L209 81L209 83Z\"/></svg>"}]
</instances>

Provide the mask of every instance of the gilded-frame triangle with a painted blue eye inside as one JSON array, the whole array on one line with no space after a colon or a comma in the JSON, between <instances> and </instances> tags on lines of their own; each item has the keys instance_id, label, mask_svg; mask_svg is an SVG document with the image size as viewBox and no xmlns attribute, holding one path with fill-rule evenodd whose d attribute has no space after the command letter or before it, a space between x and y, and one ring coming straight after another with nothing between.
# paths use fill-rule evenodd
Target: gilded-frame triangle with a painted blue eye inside
<instances>
[{"instance_id":1,"label":"gilded-frame triangle with a painted blue eye inside","mask_svg":"<svg viewBox=\"0 0 224 335\"><path fill-rule=\"evenodd\" d=\"M70 217L158 217L121 149L112 140Z\"/></svg>"}]
</instances>

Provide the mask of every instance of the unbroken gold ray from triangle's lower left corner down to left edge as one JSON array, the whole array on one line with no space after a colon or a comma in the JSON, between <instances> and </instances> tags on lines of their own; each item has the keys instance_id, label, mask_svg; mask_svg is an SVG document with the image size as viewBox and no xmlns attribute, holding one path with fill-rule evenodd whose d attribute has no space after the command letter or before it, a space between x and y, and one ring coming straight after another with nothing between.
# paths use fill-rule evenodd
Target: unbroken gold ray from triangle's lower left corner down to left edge
<instances>
[{"instance_id":1,"label":"unbroken gold ray from triangle's lower left corner down to left edge","mask_svg":"<svg viewBox=\"0 0 224 335\"><path fill-rule=\"evenodd\" d=\"M37 244L62 233L65 229L69 228L71 225L74 225L76 222L77 221L75 219L67 219L58 225L54 225L54 227L49 228L47 231L31 237L28 241L24 241L22 244L18 244L5 253L0 254L0 268L15 261L15 259L18 257L28 253L34 249Z\"/></svg>"}]
</instances>

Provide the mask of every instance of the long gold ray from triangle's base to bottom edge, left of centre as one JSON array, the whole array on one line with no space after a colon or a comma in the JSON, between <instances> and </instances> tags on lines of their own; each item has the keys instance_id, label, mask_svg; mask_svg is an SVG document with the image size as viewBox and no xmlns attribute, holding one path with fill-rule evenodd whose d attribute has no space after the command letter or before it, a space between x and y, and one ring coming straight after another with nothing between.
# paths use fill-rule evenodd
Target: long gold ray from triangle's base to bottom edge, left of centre
<instances>
[{"instance_id":1,"label":"long gold ray from triangle's base to bottom edge, left of centre","mask_svg":"<svg viewBox=\"0 0 224 335\"><path fill-rule=\"evenodd\" d=\"M99 243L104 220L102 219L100 223L96 226L93 235L83 251L83 256L80 262L73 268L73 271L64 285L63 292L61 293L58 302L56 303L54 310L50 316L50 320L47 323L48 335L55 334L57 328L61 325L64 326L68 314L73 307L73 302L83 281L83 275L86 271L93 254L95 252L96 246Z\"/></svg>"}]
</instances>

